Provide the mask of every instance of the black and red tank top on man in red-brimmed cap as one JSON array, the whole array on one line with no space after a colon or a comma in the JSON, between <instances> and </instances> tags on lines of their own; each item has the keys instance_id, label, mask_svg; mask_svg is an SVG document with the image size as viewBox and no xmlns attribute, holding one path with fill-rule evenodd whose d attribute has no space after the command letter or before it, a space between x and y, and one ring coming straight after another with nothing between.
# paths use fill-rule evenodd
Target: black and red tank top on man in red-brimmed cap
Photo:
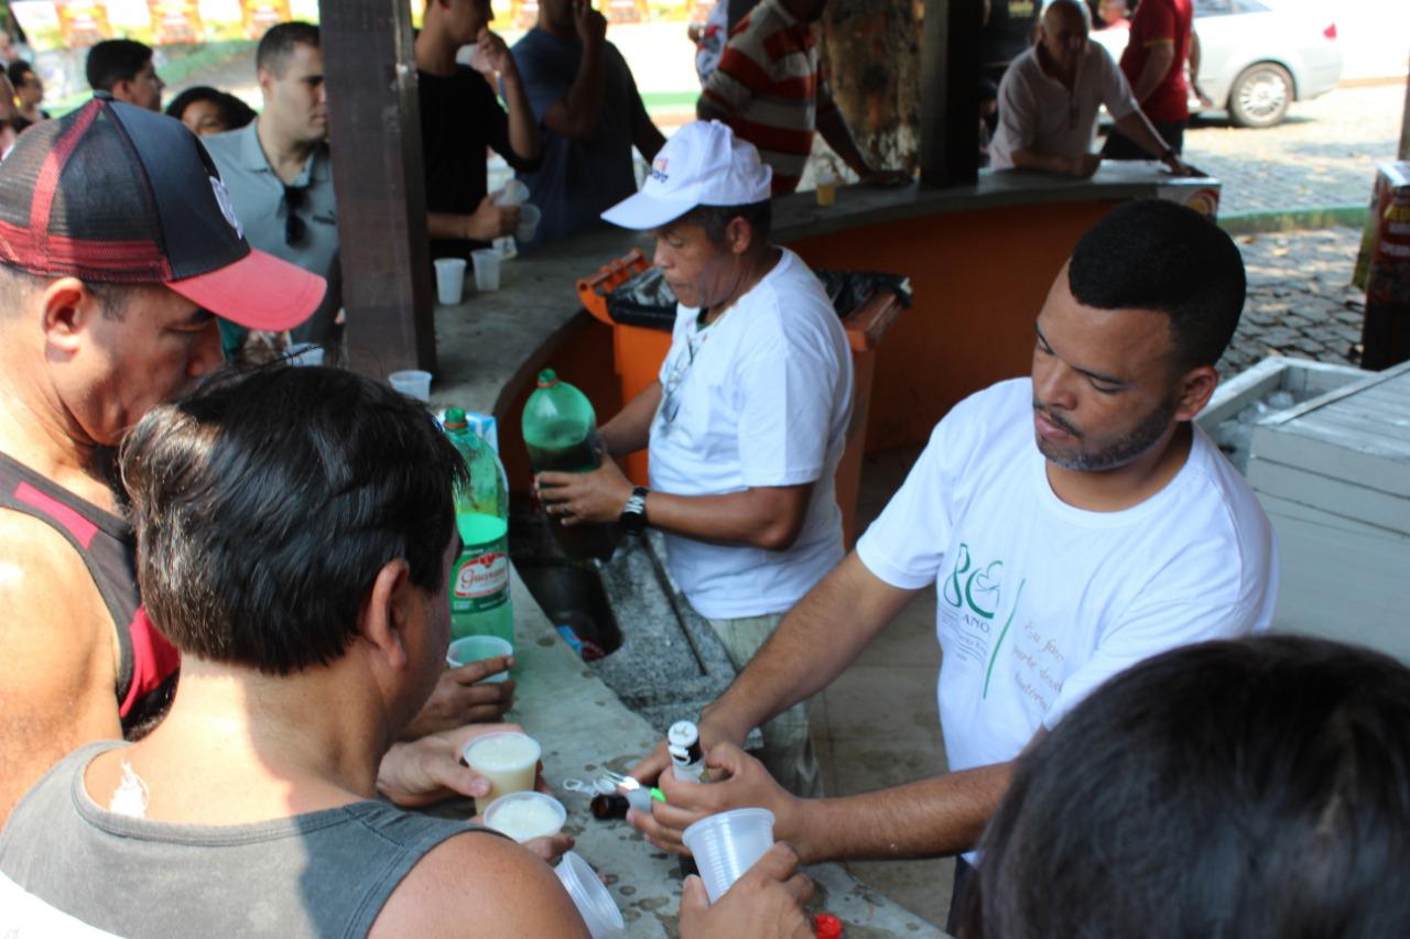
<instances>
[{"instance_id":1,"label":"black and red tank top on man in red-brimmed cap","mask_svg":"<svg viewBox=\"0 0 1410 939\"><path fill-rule=\"evenodd\" d=\"M142 736L171 704L180 653L152 627L141 606L133 529L3 453L0 509L39 519L83 558L117 629L121 654L114 694L123 735Z\"/></svg>"}]
</instances>

